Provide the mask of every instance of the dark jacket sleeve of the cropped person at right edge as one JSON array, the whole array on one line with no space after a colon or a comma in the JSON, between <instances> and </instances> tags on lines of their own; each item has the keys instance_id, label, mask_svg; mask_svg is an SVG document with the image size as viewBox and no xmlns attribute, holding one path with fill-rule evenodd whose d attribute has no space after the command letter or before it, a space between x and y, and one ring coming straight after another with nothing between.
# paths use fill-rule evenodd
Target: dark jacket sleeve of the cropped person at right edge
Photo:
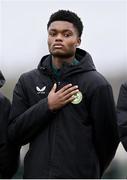
<instances>
[{"instance_id":1,"label":"dark jacket sleeve of the cropped person at right edge","mask_svg":"<svg viewBox=\"0 0 127 180\"><path fill-rule=\"evenodd\" d=\"M120 140L127 151L127 84L122 84L117 101L117 120Z\"/></svg>"}]
</instances>

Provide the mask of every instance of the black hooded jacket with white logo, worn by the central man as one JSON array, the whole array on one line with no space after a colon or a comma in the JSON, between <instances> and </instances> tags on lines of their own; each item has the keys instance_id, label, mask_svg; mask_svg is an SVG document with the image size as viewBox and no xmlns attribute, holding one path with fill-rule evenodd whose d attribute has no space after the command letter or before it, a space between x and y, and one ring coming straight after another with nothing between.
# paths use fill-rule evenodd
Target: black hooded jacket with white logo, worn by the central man
<instances>
[{"instance_id":1,"label":"black hooded jacket with white logo, worn by the central man","mask_svg":"<svg viewBox=\"0 0 127 180\"><path fill-rule=\"evenodd\" d=\"M77 49L76 59L77 65L63 65L57 84L58 89L78 85L83 95L79 104L49 110L47 96L56 82L51 55L16 84L9 137L19 145L30 143L24 178L100 178L115 155L118 132L111 86L86 51Z\"/></svg>"}]
</instances>

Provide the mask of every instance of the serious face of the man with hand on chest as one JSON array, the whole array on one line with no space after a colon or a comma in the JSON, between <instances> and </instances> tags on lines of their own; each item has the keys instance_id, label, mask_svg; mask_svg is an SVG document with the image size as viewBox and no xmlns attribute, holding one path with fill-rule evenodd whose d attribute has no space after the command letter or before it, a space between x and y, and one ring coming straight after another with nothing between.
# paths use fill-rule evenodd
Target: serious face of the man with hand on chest
<instances>
[{"instance_id":1,"label":"serious face of the man with hand on chest","mask_svg":"<svg viewBox=\"0 0 127 180\"><path fill-rule=\"evenodd\" d=\"M77 29L67 21L54 21L48 28L49 52L54 57L69 58L80 45Z\"/></svg>"}]
</instances>

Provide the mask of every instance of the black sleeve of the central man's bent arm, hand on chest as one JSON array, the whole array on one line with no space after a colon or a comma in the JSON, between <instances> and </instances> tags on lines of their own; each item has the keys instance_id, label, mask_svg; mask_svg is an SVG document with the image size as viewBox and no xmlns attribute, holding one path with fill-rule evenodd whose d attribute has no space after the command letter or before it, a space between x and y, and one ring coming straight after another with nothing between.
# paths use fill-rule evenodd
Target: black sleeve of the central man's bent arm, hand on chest
<instances>
[{"instance_id":1,"label":"black sleeve of the central man's bent arm, hand on chest","mask_svg":"<svg viewBox=\"0 0 127 180\"><path fill-rule=\"evenodd\" d=\"M43 131L54 116L48 108L47 98L29 105L29 98L22 81L21 76L14 89L8 128L10 141L19 145L29 143L37 133Z\"/></svg>"}]
</instances>

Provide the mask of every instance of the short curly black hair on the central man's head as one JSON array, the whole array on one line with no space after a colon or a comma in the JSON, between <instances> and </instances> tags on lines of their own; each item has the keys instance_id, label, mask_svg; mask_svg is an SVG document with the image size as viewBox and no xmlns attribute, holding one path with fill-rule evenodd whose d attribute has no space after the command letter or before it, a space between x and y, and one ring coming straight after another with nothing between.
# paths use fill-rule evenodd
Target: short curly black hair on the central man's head
<instances>
[{"instance_id":1,"label":"short curly black hair on the central man's head","mask_svg":"<svg viewBox=\"0 0 127 180\"><path fill-rule=\"evenodd\" d=\"M54 21L68 21L72 23L78 30L79 37L81 37L83 31L83 23L76 13L69 10L58 10L57 12L51 14L47 24L47 29L49 28L50 24Z\"/></svg>"}]
</instances>

